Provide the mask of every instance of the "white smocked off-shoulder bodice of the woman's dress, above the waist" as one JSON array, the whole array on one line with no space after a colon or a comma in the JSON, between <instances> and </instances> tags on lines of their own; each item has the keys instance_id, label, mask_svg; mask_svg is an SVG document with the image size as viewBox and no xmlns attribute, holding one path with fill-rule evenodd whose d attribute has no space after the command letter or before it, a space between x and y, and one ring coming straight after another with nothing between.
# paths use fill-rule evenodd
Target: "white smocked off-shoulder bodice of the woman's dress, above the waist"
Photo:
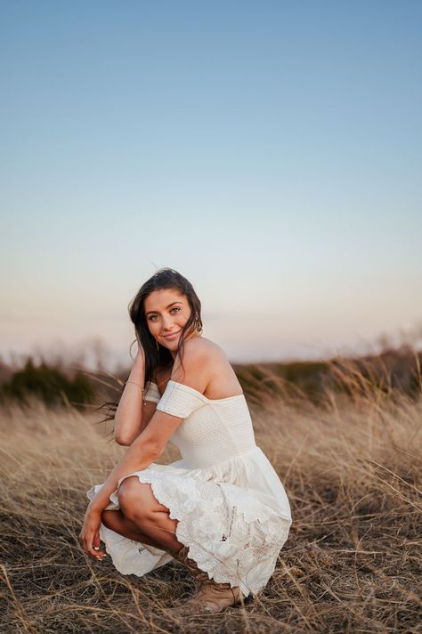
<instances>
[{"instance_id":1,"label":"white smocked off-shoulder bodice of the woman's dress, above the waist","mask_svg":"<svg viewBox=\"0 0 422 634\"><path fill-rule=\"evenodd\" d=\"M161 397L151 383L145 398L157 402L157 410L183 418L170 440L191 468L210 467L256 448L244 394L208 399L170 379Z\"/></svg>"}]
</instances>

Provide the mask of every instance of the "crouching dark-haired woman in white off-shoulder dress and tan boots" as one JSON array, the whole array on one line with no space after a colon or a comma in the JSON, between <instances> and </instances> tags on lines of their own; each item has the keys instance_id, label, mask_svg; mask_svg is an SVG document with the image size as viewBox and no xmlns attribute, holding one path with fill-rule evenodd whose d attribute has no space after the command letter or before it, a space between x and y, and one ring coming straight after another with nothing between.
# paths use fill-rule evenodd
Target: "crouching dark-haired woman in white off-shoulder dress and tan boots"
<instances>
[{"instance_id":1,"label":"crouching dark-haired woman in white off-shoulder dress and tan boots","mask_svg":"<svg viewBox=\"0 0 422 634\"><path fill-rule=\"evenodd\" d=\"M248 404L223 350L201 337L201 305L172 269L129 307L139 351L115 415L128 450L88 492L87 553L142 576L173 558L198 581L173 610L220 612L271 577L291 524L286 492L256 446ZM153 380L154 379L154 380ZM155 460L171 440L183 459Z\"/></svg>"}]
</instances>

